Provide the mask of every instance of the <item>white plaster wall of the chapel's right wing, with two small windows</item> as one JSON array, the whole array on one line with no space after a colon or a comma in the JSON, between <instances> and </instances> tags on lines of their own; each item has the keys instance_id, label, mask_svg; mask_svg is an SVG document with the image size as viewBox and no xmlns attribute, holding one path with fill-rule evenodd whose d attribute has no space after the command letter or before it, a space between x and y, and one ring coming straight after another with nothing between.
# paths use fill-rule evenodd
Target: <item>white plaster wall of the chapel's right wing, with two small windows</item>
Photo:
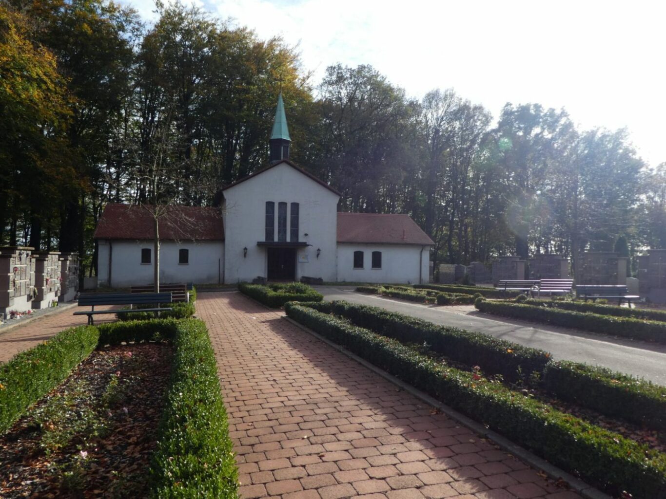
<instances>
[{"instance_id":1,"label":"white plaster wall of the chapel's right wing, with two small windows","mask_svg":"<svg viewBox=\"0 0 666 499\"><path fill-rule=\"evenodd\" d=\"M354 267L354 251L363 251L363 267ZM382 253L382 265L372 267L372 252ZM388 284L428 282L430 246L338 243L338 281Z\"/></svg>"}]
</instances>

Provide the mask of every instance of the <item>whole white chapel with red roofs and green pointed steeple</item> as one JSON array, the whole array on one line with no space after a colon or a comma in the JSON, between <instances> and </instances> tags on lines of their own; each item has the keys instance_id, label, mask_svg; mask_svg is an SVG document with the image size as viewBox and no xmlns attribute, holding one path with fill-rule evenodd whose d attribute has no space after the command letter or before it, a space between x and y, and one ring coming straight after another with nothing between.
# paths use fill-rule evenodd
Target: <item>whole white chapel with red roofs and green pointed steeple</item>
<instances>
[{"instance_id":1,"label":"whole white chapel with red roofs and green pointed steeple","mask_svg":"<svg viewBox=\"0 0 666 499\"><path fill-rule=\"evenodd\" d=\"M338 212L340 194L289 160L282 95L270 163L226 186L221 207L170 206L160 224L161 283L427 283L432 240L404 214ZM154 220L109 204L95 231L98 284L153 283Z\"/></svg>"}]
</instances>

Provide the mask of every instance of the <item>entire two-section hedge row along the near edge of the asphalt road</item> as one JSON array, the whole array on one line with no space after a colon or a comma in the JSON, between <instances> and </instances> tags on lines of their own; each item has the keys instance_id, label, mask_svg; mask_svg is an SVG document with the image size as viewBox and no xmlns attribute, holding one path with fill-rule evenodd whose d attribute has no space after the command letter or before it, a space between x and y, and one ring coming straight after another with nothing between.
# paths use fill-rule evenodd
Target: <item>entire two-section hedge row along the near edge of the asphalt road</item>
<instances>
[{"instance_id":1,"label":"entire two-section hedge row along the near edge of the asphalt road","mask_svg":"<svg viewBox=\"0 0 666 499\"><path fill-rule=\"evenodd\" d=\"M379 307L336 301L320 303L314 308L336 313L360 327L404 343L425 342L433 351L470 367L479 365L486 374L501 374L507 381L524 379L535 371L543 380L543 387L563 400L640 426L666 429L666 387L649 381L603 367L553 362L549 360L550 354L542 350L482 333L439 326Z\"/></svg>"}]
</instances>

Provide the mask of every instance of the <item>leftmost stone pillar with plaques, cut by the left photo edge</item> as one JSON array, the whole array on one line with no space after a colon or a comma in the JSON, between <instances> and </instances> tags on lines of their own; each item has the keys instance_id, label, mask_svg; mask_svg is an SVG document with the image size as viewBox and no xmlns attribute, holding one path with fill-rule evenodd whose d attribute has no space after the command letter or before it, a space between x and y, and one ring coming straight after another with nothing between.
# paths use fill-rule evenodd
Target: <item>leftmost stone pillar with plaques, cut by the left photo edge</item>
<instances>
[{"instance_id":1,"label":"leftmost stone pillar with plaques, cut by the left photo edge","mask_svg":"<svg viewBox=\"0 0 666 499\"><path fill-rule=\"evenodd\" d=\"M33 308L35 285L34 248L5 246L0 248L0 313L25 312Z\"/></svg>"}]
</instances>

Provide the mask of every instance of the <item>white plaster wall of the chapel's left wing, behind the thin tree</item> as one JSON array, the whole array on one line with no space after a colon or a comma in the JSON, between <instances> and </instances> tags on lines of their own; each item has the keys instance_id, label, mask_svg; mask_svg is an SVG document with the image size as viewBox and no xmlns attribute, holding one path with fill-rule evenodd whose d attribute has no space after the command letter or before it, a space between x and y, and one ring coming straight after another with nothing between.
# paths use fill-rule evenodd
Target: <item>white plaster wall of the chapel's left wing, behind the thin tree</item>
<instances>
[{"instance_id":1,"label":"white plaster wall of the chapel's left wing, behind the thin tree","mask_svg":"<svg viewBox=\"0 0 666 499\"><path fill-rule=\"evenodd\" d=\"M98 283L129 287L153 283L155 257L152 240L98 240ZM141 263L141 249L151 250L151 263ZM188 250L188 263L178 263L180 249ZM220 241L162 241L162 283L215 284L222 282L224 243ZM109 281L111 271L111 281Z\"/></svg>"}]
</instances>

